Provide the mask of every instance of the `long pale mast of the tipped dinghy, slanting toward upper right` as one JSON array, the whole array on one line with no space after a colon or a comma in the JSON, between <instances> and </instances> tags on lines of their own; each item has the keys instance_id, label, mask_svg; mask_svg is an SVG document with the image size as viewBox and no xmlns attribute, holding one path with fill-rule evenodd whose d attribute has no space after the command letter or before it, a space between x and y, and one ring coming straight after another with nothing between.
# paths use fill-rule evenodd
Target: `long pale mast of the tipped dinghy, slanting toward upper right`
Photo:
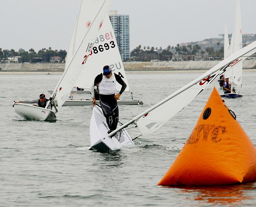
<instances>
[{"instance_id":1,"label":"long pale mast of the tipped dinghy, slanting toward upper right","mask_svg":"<svg viewBox=\"0 0 256 207\"><path fill-rule=\"evenodd\" d=\"M121 129L125 128L126 126L132 124L133 122L135 122L138 119L140 119L141 117L143 117L144 115L146 115L147 113L151 112L152 110L156 109L157 107L163 105L164 103L168 102L168 100L176 97L177 95L179 95L180 93L184 92L185 90L189 89L190 87L192 87L193 85L199 83L200 81L202 81L203 79L209 77L210 75L212 75L213 73L216 73L218 70L220 69L226 69L230 66L230 63L232 63L233 61L242 61L244 59L246 59L247 57L251 56L252 54L254 54L256 52L256 41L254 41L253 43L249 44L248 46L246 46L245 48L240 49L239 51L237 51L236 53L230 55L228 58L224 59L223 61L221 61L220 63L218 63L216 66L214 66L213 68L211 68L207 73L204 73L202 76L200 76L199 78L195 79L194 81L190 82L188 85L185 85L184 87L180 88L178 91L176 91L175 93L173 93L172 95L170 95L169 97L165 98L164 100L162 100L161 102L157 103L156 105L150 107L148 110L145 110L144 112L142 112L141 114L137 115L135 118L131 119L130 121L126 122L125 124L123 124L121 127L118 127L116 130L112 131L111 133L108 134L109 137L113 136L114 134L116 134L116 132L120 131ZM242 58L241 58L242 57ZM238 58L241 58L240 60L238 60ZM233 65L234 66L234 65ZM232 68L232 65L231 65ZM230 70L231 68L228 68L228 70ZM220 75L220 74L219 74Z\"/></svg>"}]
</instances>

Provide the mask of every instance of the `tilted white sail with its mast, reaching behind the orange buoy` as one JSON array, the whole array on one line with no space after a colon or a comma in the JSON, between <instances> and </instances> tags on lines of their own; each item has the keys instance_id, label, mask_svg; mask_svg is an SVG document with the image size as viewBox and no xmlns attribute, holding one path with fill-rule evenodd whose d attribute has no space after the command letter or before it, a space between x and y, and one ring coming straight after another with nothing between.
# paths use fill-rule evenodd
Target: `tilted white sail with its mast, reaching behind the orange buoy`
<instances>
[{"instance_id":1,"label":"tilted white sail with its mast, reaching behind the orange buoy","mask_svg":"<svg viewBox=\"0 0 256 207\"><path fill-rule=\"evenodd\" d=\"M224 59L209 71L201 75L199 78L185 85L184 87L171 94L161 102L157 103L150 109L144 111L137 117L131 119L123 126L111 132L109 136L114 135L117 131L125 128L133 122L137 124L138 129L142 135L147 136L152 132L159 129L171 119L180 110L186 107L199 93L208 87L217 77L226 71L234 68L237 64L241 63L248 56L256 52L256 41L249 44L245 48L231 54L228 58Z\"/></svg>"}]
</instances>

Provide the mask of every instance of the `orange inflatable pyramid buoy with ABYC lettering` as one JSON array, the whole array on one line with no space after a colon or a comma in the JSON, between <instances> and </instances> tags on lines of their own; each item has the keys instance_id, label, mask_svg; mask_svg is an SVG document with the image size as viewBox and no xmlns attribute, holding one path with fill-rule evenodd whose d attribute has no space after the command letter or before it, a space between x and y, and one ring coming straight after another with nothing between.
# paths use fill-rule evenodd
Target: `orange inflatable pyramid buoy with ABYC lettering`
<instances>
[{"instance_id":1,"label":"orange inflatable pyramid buoy with ABYC lettering","mask_svg":"<svg viewBox=\"0 0 256 207\"><path fill-rule=\"evenodd\" d=\"M192 134L158 185L256 182L256 149L214 87Z\"/></svg>"}]
</instances>

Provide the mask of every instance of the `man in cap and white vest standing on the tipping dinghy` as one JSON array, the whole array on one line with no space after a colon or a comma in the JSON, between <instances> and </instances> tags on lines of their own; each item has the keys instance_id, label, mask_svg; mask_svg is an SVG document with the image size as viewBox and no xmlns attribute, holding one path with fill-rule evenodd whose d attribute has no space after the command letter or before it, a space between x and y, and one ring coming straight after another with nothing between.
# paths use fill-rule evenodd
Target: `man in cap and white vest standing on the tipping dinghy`
<instances>
[{"instance_id":1,"label":"man in cap and white vest standing on the tipping dinghy","mask_svg":"<svg viewBox=\"0 0 256 207\"><path fill-rule=\"evenodd\" d=\"M115 95L116 82L122 85L122 88L120 92ZM106 117L107 125L109 126L108 133L110 133L111 131L114 131L118 125L119 111L117 100L125 91L127 85L119 75L111 71L108 65L104 66L103 73L96 76L90 88L93 107L96 105L94 87L97 86L97 84L99 84L100 106Z\"/></svg>"}]
</instances>

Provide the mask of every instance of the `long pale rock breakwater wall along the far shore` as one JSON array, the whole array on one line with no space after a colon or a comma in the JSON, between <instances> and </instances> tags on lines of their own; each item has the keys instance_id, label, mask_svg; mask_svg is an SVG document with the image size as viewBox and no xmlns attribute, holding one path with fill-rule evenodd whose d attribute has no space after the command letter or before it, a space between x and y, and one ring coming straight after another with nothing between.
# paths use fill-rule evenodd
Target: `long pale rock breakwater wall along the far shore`
<instances>
[{"instance_id":1,"label":"long pale rock breakwater wall along the far shore","mask_svg":"<svg viewBox=\"0 0 256 207\"><path fill-rule=\"evenodd\" d=\"M209 70L220 61L162 61L162 62L125 62L127 71L154 71L154 70ZM0 72L44 72L64 71L64 63L5 63L0 64ZM256 60L243 61L244 69L256 69Z\"/></svg>"}]
</instances>

